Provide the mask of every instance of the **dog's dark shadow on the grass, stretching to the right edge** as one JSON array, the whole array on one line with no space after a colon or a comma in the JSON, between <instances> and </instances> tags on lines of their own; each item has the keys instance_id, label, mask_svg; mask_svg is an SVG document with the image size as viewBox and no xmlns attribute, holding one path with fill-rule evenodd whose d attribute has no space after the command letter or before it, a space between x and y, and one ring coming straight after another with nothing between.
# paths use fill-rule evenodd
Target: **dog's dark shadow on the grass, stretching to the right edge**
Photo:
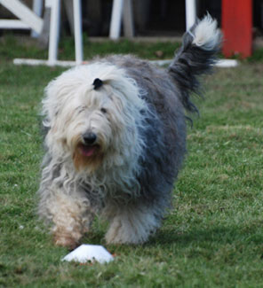
<instances>
[{"instance_id":1,"label":"dog's dark shadow on the grass, stretching to the right edge","mask_svg":"<svg viewBox=\"0 0 263 288\"><path fill-rule=\"evenodd\" d=\"M262 230L262 229L261 229ZM92 230L84 236L82 244L92 245L105 245L105 234L107 229ZM157 246L162 246L162 250L166 248L171 249L176 245L180 249L197 249L199 246L203 247L220 247L224 245L236 245L236 246L261 246L263 243L263 233L259 233L259 227L244 228L242 226L224 227L217 226L209 229L192 229L184 232L179 230L171 230L163 228L157 231L157 233L150 237L149 241L143 245L113 245L114 250L130 250L132 247L144 247L152 250ZM109 245L110 247L112 245ZM194 248L194 250L195 250ZM140 248L139 248L140 249ZM213 249L212 249L213 250ZM258 249L256 249L258 250Z\"/></svg>"}]
</instances>

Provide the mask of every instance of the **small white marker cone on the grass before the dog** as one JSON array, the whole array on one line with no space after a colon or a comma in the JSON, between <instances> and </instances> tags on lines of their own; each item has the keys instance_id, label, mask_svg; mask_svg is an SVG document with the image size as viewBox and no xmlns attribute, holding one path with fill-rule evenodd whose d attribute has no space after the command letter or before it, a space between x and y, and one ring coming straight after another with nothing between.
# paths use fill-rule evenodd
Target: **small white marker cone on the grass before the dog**
<instances>
[{"instance_id":1,"label":"small white marker cone on the grass before the dog","mask_svg":"<svg viewBox=\"0 0 263 288\"><path fill-rule=\"evenodd\" d=\"M113 260L114 257L108 253L103 246L88 244L80 245L62 259L62 261L76 261L80 263L85 263L87 261L105 263Z\"/></svg>"}]
</instances>

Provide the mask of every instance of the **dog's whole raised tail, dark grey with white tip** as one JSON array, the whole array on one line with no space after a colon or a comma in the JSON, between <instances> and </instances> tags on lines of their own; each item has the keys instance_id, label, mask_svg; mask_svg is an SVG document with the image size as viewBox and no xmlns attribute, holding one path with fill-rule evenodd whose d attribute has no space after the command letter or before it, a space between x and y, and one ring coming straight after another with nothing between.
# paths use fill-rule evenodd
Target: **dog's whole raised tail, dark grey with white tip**
<instances>
[{"instance_id":1,"label":"dog's whole raised tail, dark grey with white tip","mask_svg":"<svg viewBox=\"0 0 263 288\"><path fill-rule=\"evenodd\" d=\"M182 46L168 68L179 86L182 104L190 112L198 110L190 101L189 94L200 94L198 76L211 72L221 40L217 21L208 14L185 33Z\"/></svg>"}]
</instances>

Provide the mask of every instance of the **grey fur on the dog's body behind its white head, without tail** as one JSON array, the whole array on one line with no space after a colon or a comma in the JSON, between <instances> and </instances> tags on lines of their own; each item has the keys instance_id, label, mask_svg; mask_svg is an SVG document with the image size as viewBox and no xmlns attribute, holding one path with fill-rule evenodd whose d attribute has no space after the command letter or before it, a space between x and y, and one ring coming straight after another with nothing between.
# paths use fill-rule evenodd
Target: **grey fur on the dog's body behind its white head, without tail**
<instances>
[{"instance_id":1,"label":"grey fur on the dog's body behind its white head, without tail","mask_svg":"<svg viewBox=\"0 0 263 288\"><path fill-rule=\"evenodd\" d=\"M171 206L171 191L186 152L186 123L177 86L167 71L147 61L128 56L105 59L121 66L142 90L151 113L147 117L144 134L147 148L141 157L142 172L138 175L141 198L147 205L155 203L163 217ZM141 112L144 113L144 112Z\"/></svg>"}]
</instances>

